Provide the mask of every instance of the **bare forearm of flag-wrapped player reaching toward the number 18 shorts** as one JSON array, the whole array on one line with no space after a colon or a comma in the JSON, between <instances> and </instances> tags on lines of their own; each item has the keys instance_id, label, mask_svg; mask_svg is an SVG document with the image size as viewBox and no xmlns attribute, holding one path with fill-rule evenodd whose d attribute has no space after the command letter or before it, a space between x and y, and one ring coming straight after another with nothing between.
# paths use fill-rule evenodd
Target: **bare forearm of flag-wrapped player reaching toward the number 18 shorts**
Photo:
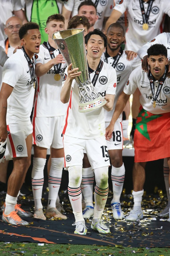
<instances>
[{"instance_id":1,"label":"bare forearm of flag-wrapped player reaching toward the number 18 shorts","mask_svg":"<svg viewBox=\"0 0 170 256\"><path fill-rule=\"evenodd\" d=\"M122 113L124 107L126 106L126 103L129 99L129 97L130 97L130 95L124 93L124 91L122 91L122 93L119 95L112 119L110 121L109 126L106 128L106 133L105 133L106 140L110 140L112 132L114 130L115 122L116 122L117 118L120 116L120 114Z\"/></svg>"}]
</instances>

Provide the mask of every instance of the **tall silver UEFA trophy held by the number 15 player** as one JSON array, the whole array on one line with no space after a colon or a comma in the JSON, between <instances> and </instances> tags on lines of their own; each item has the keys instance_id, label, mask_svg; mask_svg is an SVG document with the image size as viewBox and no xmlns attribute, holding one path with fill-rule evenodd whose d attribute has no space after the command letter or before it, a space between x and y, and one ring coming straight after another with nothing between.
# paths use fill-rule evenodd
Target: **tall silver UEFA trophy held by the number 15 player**
<instances>
[{"instance_id":1,"label":"tall silver UEFA trophy held by the number 15 player","mask_svg":"<svg viewBox=\"0 0 170 256\"><path fill-rule=\"evenodd\" d=\"M89 79L83 29L61 30L53 34L53 40L67 65L78 67L81 75L76 77L79 90L79 112L87 112L105 105L106 100L96 92Z\"/></svg>"}]
</instances>

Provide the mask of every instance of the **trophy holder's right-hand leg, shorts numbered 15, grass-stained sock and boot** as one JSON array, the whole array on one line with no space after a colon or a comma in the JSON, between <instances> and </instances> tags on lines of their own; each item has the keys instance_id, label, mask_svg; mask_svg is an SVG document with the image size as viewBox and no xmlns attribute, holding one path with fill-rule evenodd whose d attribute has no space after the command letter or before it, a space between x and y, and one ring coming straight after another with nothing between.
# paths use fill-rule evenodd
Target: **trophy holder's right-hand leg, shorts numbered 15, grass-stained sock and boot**
<instances>
[{"instance_id":1,"label":"trophy holder's right-hand leg, shorts numbered 15, grass-stained sock and boot","mask_svg":"<svg viewBox=\"0 0 170 256\"><path fill-rule=\"evenodd\" d=\"M97 139L86 140L86 152L94 169L96 187L94 192L94 216L91 228L99 233L109 233L110 229L102 221L102 214L108 196L108 166L109 154L107 151L105 136Z\"/></svg>"}]
</instances>

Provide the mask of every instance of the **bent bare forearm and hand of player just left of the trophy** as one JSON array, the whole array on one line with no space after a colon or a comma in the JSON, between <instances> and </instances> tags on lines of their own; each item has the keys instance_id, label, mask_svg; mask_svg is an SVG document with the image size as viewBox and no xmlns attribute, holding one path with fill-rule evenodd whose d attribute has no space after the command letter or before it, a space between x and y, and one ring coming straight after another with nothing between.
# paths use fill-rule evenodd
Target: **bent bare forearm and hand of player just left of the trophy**
<instances>
[{"instance_id":1,"label":"bent bare forearm and hand of player just left of the trophy","mask_svg":"<svg viewBox=\"0 0 170 256\"><path fill-rule=\"evenodd\" d=\"M59 63L65 63L62 54L58 54L54 59L49 60L47 63L37 63L35 65L35 73L37 77L41 77L46 74L55 64L58 65Z\"/></svg>"}]
</instances>

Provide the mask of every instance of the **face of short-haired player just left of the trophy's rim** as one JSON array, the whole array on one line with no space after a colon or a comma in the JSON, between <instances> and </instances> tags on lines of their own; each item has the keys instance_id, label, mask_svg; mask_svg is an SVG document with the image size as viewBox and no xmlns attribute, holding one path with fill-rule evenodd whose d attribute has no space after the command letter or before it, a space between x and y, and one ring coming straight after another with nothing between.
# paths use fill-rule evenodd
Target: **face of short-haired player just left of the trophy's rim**
<instances>
[{"instance_id":1,"label":"face of short-haired player just left of the trophy's rim","mask_svg":"<svg viewBox=\"0 0 170 256\"><path fill-rule=\"evenodd\" d=\"M45 32L48 34L48 38L51 38L51 39L52 39L53 33L58 32L60 30L64 30L64 22L57 21L57 20L48 22L45 28Z\"/></svg>"}]
</instances>

